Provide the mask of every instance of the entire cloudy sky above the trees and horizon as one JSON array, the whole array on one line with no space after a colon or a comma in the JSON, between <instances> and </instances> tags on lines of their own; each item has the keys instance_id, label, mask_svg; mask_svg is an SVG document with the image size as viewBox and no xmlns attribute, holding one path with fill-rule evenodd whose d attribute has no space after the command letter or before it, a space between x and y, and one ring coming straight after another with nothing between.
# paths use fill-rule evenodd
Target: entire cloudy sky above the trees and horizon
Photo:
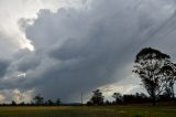
<instances>
[{"instance_id":1,"label":"entire cloudy sky above the trees and horizon","mask_svg":"<svg viewBox=\"0 0 176 117\"><path fill-rule=\"evenodd\" d=\"M145 92L135 55L175 38L176 0L0 0L0 103Z\"/></svg>"}]
</instances>

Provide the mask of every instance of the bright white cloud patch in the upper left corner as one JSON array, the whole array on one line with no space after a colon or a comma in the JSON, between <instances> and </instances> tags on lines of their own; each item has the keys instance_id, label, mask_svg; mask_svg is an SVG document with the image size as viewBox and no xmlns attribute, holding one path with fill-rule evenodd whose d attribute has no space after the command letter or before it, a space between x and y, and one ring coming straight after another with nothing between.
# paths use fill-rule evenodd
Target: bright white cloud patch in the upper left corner
<instances>
[{"instance_id":1,"label":"bright white cloud patch in the upper left corner","mask_svg":"<svg viewBox=\"0 0 176 117\"><path fill-rule=\"evenodd\" d=\"M22 32L18 25L21 18L23 19L36 19L40 9L50 9L55 12L67 3L73 4L74 1L78 0L1 0L0 1L0 41L9 46L11 50L8 53L13 53L14 51L23 47L34 50L30 41L25 38L24 32ZM6 36L6 39L3 39ZM8 42L8 44L4 44ZM7 49L8 50L8 49ZM1 52L1 51L0 51Z\"/></svg>"}]
</instances>

